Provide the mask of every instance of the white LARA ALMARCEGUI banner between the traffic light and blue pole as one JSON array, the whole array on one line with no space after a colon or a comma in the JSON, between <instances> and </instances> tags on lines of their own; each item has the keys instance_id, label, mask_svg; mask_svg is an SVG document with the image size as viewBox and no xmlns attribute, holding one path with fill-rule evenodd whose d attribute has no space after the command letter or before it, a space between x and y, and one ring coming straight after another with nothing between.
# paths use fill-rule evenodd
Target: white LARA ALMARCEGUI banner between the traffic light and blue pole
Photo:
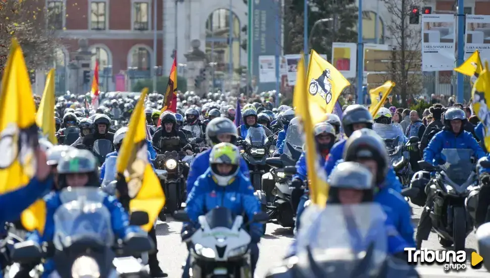
<instances>
[{"instance_id":1,"label":"white LARA ALMARCEGUI banner between the traffic light and blue pole","mask_svg":"<svg viewBox=\"0 0 490 278\"><path fill-rule=\"evenodd\" d=\"M422 15L422 71L452 71L455 67L455 17L455 15Z\"/></svg>"}]
</instances>

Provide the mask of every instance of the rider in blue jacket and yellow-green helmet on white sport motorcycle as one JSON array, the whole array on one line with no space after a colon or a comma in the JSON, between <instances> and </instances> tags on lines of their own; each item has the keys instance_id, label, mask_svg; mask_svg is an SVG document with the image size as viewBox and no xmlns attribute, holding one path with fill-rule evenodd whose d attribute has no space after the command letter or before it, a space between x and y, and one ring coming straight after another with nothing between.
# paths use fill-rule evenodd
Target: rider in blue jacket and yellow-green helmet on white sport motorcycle
<instances>
[{"instance_id":1,"label":"rider in blue jacket and yellow-green helmet on white sport motorcycle","mask_svg":"<svg viewBox=\"0 0 490 278\"><path fill-rule=\"evenodd\" d=\"M185 202L185 212L190 223L184 225L182 233L197 225L198 217L216 207L226 207L235 215L245 213L249 219L261 211L258 199L254 196L254 187L250 179L240 171L240 152L230 143L215 145L210 153L210 167L195 181L194 187ZM264 234L262 224L252 223L249 233L252 275L259 259L257 244ZM190 256L190 255L189 255ZM190 257L187 258L182 277L188 277Z\"/></svg>"}]
</instances>

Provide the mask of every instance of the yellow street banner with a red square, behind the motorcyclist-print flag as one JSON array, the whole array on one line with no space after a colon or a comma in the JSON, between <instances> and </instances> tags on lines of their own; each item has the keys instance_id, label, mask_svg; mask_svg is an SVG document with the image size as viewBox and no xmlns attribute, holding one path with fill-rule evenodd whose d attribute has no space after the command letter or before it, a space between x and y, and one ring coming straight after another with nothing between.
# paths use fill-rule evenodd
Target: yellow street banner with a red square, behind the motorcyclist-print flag
<instances>
[{"instance_id":1,"label":"yellow street banner with a red square, behind the motorcyclist-print flag","mask_svg":"<svg viewBox=\"0 0 490 278\"><path fill-rule=\"evenodd\" d=\"M354 42L332 43L332 65L345 78L356 77L357 44Z\"/></svg>"}]
</instances>

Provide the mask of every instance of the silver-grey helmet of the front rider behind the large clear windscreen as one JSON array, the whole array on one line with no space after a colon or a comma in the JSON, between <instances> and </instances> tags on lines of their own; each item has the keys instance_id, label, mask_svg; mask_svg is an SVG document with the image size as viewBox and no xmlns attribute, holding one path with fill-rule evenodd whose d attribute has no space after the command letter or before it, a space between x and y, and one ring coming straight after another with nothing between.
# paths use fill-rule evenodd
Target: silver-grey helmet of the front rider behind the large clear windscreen
<instances>
[{"instance_id":1,"label":"silver-grey helmet of the front rider behind the large clear windscreen","mask_svg":"<svg viewBox=\"0 0 490 278\"><path fill-rule=\"evenodd\" d=\"M338 191L353 189L364 192L362 202L372 202L374 198L373 175L357 162L339 163L328 176L328 203L339 203Z\"/></svg>"}]
</instances>

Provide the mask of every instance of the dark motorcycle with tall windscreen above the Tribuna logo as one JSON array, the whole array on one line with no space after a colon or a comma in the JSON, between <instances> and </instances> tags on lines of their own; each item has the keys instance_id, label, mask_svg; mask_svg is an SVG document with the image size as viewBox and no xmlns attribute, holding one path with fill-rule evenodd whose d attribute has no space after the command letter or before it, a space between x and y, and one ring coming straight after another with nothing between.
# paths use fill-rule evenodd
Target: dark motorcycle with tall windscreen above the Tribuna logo
<instances>
[{"instance_id":1,"label":"dark motorcycle with tall windscreen above the Tribuna logo","mask_svg":"<svg viewBox=\"0 0 490 278\"><path fill-rule=\"evenodd\" d=\"M454 245L455 251L465 249L465 241L473 230L474 221L469 211L476 211L476 204L468 202L472 191L478 190L478 176L471 161L473 151L470 149L444 149L443 165L432 166L419 161L425 171L435 171L435 178L428 183L428 198L433 199L430 209L432 229L437 233L440 245ZM421 242L417 242L420 246Z\"/></svg>"}]
</instances>

